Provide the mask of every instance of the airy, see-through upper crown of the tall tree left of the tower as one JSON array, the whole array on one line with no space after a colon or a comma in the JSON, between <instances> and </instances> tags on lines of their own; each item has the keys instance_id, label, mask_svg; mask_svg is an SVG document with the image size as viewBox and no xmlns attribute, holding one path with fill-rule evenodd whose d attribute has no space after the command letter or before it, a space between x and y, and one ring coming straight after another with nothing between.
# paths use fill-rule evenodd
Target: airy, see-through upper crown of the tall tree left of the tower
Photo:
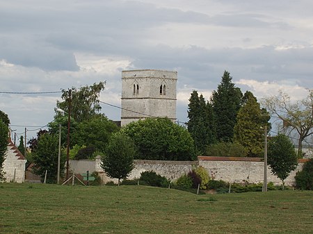
<instances>
[{"instance_id":1,"label":"airy, see-through upper crown of the tall tree left of the tower","mask_svg":"<svg viewBox=\"0 0 313 234\"><path fill-rule=\"evenodd\" d=\"M57 101L56 106L65 112L70 112L74 121L82 122L99 115L99 94L104 90L105 82L82 86L79 89L72 87L70 90L62 90L62 100ZM69 106L71 107L69 111ZM61 114L58 114L61 115ZM72 120L71 120L72 121Z\"/></svg>"}]
</instances>

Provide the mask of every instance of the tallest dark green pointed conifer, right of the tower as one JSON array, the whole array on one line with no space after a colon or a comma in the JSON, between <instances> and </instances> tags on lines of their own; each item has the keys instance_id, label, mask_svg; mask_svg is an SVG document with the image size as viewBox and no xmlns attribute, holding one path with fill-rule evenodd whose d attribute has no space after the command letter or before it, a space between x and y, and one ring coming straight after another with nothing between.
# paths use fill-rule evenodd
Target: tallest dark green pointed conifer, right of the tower
<instances>
[{"instance_id":1,"label":"tallest dark green pointed conifer, right of the tower","mask_svg":"<svg viewBox=\"0 0 313 234\"><path fill-rule=\"evenodd\" d=\"M241 98L241 90L234 86L232 76L225 71L217 91L214 90L211 97L219 142L232 142L236 116L241 107Z\"/></svg>"}]
</instances>

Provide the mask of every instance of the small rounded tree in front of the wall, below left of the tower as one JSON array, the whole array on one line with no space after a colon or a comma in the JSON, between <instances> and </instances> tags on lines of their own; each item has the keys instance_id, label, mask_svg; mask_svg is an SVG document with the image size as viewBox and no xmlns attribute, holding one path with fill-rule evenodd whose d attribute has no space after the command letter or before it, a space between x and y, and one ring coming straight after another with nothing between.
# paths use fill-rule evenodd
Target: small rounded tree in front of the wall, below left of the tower
<instances>
[{"instance_id":1,"label":"small rounded tree in front of the wall, below left of the tower","mask_svg":"<svg viewBox=\"0 0 313 234\"><path fill-rule=\"evenodd\" d=\"M115 133L111 136L105 156L102 156L102 168L111 178L127 178L134 169L135 156L134 142L124 133Z\"/></svg>"}]
</instances>

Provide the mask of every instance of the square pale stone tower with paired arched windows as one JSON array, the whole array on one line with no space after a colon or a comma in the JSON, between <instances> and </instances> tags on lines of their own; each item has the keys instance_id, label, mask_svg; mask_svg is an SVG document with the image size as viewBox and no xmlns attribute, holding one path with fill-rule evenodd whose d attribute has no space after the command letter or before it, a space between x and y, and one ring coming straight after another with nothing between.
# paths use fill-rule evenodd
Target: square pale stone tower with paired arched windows
<instances>
[{"instance_id":1,"label":"square pale stone tower with paired arched windows","mask_svg":"<svg viewBox=\"0 0 313 234\"><path fill-rule=\"evenodd\" d=\"M124 126L147 117L176 120L177 72L156 69L122 71Z\"/></svg>"}]
</instances>

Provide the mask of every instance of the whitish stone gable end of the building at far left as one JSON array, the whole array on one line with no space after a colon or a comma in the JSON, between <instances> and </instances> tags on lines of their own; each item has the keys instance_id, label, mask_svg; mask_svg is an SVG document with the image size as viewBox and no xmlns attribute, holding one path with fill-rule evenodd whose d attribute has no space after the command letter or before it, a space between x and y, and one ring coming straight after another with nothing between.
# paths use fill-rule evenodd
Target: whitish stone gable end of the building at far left
<instances>
[{"instance_id":1,"label":"whitish stone gable end of the building at far left","mask_svg":"<svg viewBox=\"0 0 313 234\"><path fill-rule=\"evenodd\" d=\"M24 183L25 164L26 159L9 138L6 160L3 162L4 178L6 178L6 182Z\"/></svg>"}]
</instances>

